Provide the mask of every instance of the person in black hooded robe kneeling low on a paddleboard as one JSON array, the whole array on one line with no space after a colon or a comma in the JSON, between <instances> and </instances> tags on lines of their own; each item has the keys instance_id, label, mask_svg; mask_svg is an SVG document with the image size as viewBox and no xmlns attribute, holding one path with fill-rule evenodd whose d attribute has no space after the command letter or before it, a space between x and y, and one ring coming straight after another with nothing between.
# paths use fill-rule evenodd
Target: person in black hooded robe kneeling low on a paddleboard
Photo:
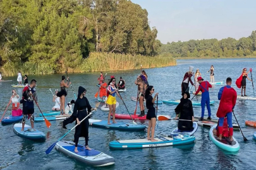
<instances>
[{"instance_id":1,"label":"person in black hooded robe kneeling low on a paddleboard","mask_svg":"<svg viewBox=\"0 0 256 170\"><path fill-rule=\"evenodd\" d=\"M183 97L180 99L179 105L175 108L177 120L178 116L180 115L181 120L178 123L178 129L181 131L192 131L193 122L194 122L194 111L192 106L192 101L189 99L190 93L185 92L183 93ZM191 121L184 121L184 120L191 120Z\"/></svg>"}]
</instances>

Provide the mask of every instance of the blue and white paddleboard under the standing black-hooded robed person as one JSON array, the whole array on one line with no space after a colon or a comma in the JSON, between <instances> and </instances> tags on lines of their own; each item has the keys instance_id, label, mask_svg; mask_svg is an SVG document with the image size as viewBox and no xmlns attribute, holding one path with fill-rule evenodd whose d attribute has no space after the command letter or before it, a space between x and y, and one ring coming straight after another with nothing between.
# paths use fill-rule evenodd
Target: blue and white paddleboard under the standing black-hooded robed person
<instances>
[{"instance_id":1,"label":"blue and white paddleboard under the standing black-hooded robed person","mask_svg":"<svg viewBox=\"0 0 256 170\"><path fill-rule=\"evenodd\" d=\"M114 164L114 157L98 150L87 150L84 145L78 144L78 153L76 153L74 151L75 143L71 141L61 140L55 145L55 149L90 166L109 166Z\"/></svg>"}]
</instances>

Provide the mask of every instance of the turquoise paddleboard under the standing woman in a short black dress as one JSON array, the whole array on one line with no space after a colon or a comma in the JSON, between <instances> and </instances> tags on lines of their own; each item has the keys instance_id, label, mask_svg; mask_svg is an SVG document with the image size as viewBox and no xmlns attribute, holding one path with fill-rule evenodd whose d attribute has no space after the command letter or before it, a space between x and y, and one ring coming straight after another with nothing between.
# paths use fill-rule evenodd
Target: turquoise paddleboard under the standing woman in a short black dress
<instances>
[{"instance_id":1,"label":"turquoise paddleboard under the standing woman in a short black dress","mask_svg":"<svg viewBox=\"0 0 256 170\"><path fill-rule=\"evenodd\" d=\"M145 147L163 147L171 145L185 145L194 142L194 136L178 135L176 137L155 137L157 142L147 139L131 139L111 141L109 147L113 149L138 149Z\"/></svg>"}]
</instances>

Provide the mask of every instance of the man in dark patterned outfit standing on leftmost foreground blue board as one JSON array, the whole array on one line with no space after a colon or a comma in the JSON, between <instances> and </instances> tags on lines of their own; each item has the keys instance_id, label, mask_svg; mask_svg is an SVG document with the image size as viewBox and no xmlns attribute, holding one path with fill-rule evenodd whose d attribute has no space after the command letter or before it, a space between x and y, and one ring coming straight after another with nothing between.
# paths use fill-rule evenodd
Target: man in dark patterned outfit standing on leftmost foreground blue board
<instances>
[{"instance_id":1,"label":"man in dark patterned outfit standing on leftmost foreground blue board","mask_svg":"<svg viewBox=\"0 0 256 170\"><path fill-rule=\"evenodd\" d=\"M22 118L22 128L21 131L24 130L26 118L28 116L28 119L30 118L31 123L31 130L34 129L34 98L37 100L37 94L35 93L35 86L37 81L35 79L32 79L29 86L25 86L25 88L22 91L22 100L20 103L23 104L23 118ZM34 98L33 98L33 96ZM31 131L30 130L30 131Z\"/></svg>"}]
</instances>

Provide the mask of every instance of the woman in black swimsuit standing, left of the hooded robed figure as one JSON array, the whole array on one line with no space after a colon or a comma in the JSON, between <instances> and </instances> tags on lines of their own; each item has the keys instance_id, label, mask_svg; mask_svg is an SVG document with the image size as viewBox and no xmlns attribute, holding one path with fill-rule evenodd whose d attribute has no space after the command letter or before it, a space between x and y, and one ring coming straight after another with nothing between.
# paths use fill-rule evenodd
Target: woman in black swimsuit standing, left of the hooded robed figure
<instances>
[{"instance_id":1,"label":"woman in black swimsuit standing, left of the hooded robed figure","mask_svg":"<svg viewBox=\"0 0 256 170\"><path fill-rule=\"evenodd\" d=\"M60 86L61 86L61 91L59 91L57 93L57 96L60 98L60 101L61 101L61 115L63 115L64 111L65 111L65 98L66 98L66 88L69 88L70 87L70 84L71 82L68 84L68 82L64 82L64 80L66 80L66 77L65 76L62 76L61 77L61 83L60 83Z\"/></svg>"}]
</instances>

